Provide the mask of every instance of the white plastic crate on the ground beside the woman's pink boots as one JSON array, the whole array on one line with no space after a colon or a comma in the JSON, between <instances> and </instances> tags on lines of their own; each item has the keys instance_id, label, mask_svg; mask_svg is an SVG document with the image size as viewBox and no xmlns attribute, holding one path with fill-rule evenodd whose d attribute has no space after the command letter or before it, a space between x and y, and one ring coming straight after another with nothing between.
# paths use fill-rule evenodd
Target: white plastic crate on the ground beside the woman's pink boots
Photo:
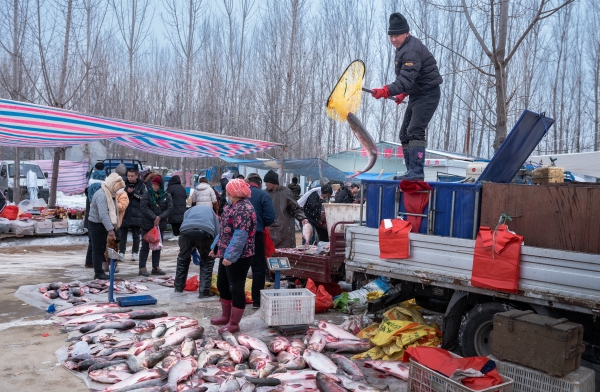
<instances>
[{"instance_id":1,"label":"white plastic crate on the ground beside the woman's pink boots","mask_svg":"<svg viewBox=\"0 0 600 392\"><path fill-rule=\"evenodd\" d=\"M315 321L315 295L307 289L260 291L263 321L270 327L312 324Z\"/></svg>"}]
</instances>

